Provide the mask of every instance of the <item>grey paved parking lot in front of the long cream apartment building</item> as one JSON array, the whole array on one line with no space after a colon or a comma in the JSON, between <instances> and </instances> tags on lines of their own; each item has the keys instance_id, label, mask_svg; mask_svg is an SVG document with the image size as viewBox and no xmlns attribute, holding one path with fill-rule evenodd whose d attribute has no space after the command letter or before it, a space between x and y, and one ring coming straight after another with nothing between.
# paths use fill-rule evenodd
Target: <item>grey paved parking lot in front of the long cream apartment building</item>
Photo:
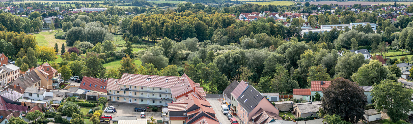
<instances>
[{"instance_id":1,"label":"grey paved parking lot in front of the long cream apartment building","mask_svg":"<svg viewBox=\"0 0 413 124\"><path fill-rule=\"evenodd\" d=\"M109 104L112 104L111 106L116 107L116 111L117 112L103 112L103 114L110 114L113 117L116 116L136 116L138 118L140 117L140 112L135 112L135 107L146 107L143 105L132 105L132 104L124 104L124 103L112 103L112 102L108 102ZM155 119L162 119L161 118L161 112L145 112L146 117L142 117L142 118L146 118L149 119L151 116L153 116Z\"/></svg>"}]
</instances>

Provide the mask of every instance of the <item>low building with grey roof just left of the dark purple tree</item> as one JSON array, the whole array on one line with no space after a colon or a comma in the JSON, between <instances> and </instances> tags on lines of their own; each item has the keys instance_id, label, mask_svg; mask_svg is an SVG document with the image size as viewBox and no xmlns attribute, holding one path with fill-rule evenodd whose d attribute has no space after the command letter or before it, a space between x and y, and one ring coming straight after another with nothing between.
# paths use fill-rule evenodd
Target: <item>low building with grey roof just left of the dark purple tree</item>
<instances>
[{"instance_id":1,"label":"low building with grey roof just left of the dark purple tree","mask_svg":"<svg viewBox=\"0 0 413 124\"><path fill-rule=\"evenodd\" d=\"M297 117L314 116L318 112L318 108L321 107L321 101L307 102L307 103L294 103L292 104L292 113Z\"/></svg>"}]
</instances>

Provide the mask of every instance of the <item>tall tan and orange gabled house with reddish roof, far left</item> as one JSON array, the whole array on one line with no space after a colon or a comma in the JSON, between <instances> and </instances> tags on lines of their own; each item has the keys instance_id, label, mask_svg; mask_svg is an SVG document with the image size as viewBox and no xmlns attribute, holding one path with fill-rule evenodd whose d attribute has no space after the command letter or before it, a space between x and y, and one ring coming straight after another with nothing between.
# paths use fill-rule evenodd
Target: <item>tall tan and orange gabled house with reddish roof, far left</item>
<instances>
[{"instance_id":1,"label":"tall tan and orange gabled house with reddish roof, far left","mask_svg":"<svg viewBox=\"0 0 413 124\"><path fill-rule=\"evenodd\" d=\"M40 87L45 87L45 89L59 88L62 75L58 74L57 70L50 66L49 63L46 62L34 70L41 79Z\"/></svg>"}]
</instances>

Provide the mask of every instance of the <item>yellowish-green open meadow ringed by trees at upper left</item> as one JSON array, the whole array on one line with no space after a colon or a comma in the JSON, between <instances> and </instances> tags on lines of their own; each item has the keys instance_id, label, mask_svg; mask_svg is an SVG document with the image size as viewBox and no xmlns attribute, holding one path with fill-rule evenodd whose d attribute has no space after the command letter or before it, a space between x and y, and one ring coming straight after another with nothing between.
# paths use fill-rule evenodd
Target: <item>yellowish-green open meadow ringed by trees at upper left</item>
<instances>
[{"instance_id":1,"label":"yellowish-green open meadow ringed by trees at upper left","mask_svg":"<svg viewBox=\"0 0 413 124\"><path fill-rule=\"evenodd\" d=\"M55 33L54 32L40 32L40 33L34 33L31 34L33 36L36 36L36 41L39 43L38 45L40 46L49 46L55 48L55 43L59 45L59 51L60 48L62 47L62 43L66 44L66 40L60 40L55 38ZM64 49L67 50L69 48L72 48L70 46L65 46Z\"/></svg>"}]
</instances>

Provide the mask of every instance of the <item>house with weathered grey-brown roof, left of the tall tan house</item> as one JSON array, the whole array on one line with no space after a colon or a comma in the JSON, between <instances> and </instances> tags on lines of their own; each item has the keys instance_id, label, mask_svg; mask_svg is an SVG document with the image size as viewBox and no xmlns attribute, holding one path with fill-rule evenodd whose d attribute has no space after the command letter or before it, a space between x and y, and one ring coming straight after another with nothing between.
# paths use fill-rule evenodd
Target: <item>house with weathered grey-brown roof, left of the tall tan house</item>
<instances>
[{"instance_id":1,"label":"house with weathered grey-brown roof, left of the tall tan house","mask_svg":"<svg viewBox=\"0 0 413 124\"><path fill-rule=\"evenodd\" d=\"M12 83L12 85L20 86L24 90L26 88L38 88L40 87L40 77L36 74L35 70L27 72L17 77L17 79Z\"/></svg>"}]
</instances>

